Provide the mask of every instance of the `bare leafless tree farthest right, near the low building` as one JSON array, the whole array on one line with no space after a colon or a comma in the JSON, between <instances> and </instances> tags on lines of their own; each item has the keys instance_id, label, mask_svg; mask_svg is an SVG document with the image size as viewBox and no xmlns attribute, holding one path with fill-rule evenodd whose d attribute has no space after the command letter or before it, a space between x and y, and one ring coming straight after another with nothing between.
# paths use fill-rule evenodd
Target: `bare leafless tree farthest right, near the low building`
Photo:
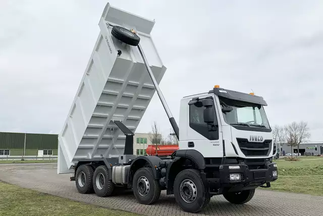
<instances>
[{"instance_id":1,"label":"bare leafless tree farthest right, near the low building","mask_svg":"<svg viewBox=\"0 0 323 216\"><path fill-rule=\"evenodd\" d=\"M288 135L293 138L293 142L295 142L295 145L297 146L297 153L299 153L299 144L311 137L307 122L301 121L297 123L293 121L285 126L285 130L287 131Z\"/></svg>"}]
</instances>

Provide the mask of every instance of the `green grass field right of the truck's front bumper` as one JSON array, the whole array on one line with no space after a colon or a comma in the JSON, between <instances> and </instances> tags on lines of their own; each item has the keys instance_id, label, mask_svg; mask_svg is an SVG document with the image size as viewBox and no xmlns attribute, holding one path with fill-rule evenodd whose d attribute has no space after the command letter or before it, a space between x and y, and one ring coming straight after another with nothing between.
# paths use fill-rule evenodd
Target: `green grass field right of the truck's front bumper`
<instances>
[{"instance_id":1,"label":"green grass field right of the truck's front bumper","mask_svg":"<svg viewBox=\"0 0 323 216\"><path fill-rule=\"evenodd\" d=\"M299 157L299 161L276 160L278 180L271 183L271 188L294 193L323 196L323 158Z\"/></svg>"}]
</instances>

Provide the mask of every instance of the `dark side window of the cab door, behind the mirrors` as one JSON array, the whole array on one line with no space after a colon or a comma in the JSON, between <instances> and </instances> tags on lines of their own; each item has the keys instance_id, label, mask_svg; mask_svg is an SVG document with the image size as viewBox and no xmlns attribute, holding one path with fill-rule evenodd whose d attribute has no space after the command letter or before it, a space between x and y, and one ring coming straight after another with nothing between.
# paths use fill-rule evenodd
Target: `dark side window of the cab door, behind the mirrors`
<instances>
[{"instance_id":1,"label":"dark side window of the cab door, behind the mirrors","mask_svg":"<svg viewBox=\"0 0 323 216\"><path fill-rule=\"evenodd\" d=\"M203 107L202 102L198 101L195 104L189 105L189 107L190 127L208 140L219 140L219 129L204 122L203 110L205 107ZM212 109L214 111L214 122L218 122L214 105Z\"/></svg>"}]
</instances>

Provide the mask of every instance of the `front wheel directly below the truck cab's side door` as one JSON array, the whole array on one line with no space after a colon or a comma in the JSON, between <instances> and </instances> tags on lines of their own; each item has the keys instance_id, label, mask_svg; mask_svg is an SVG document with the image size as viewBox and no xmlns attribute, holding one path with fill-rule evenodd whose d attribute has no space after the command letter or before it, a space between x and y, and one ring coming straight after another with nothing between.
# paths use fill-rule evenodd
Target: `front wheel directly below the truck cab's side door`
<instances>
[{"instance_id":1,"label":"front wheel directly below the truck cab's side door","mask_svg":"<svg viewBox=\"0 0 323 216\"><path fill-rule=\"evenodd\" d=\"M185 184L186 182L189 184ZM184 184L182 185L182 183ZM186 188L188 188L188 190L186 190ZM186 192L188 192L188 194ZM187 195L186 201L181 193L184 197ZM199 171L195 169L185 169L179 172L174 182L174 196L176 202L184 211L192 213L202 210L211 198L202 182Z\"/></svg>"}]
</instances>

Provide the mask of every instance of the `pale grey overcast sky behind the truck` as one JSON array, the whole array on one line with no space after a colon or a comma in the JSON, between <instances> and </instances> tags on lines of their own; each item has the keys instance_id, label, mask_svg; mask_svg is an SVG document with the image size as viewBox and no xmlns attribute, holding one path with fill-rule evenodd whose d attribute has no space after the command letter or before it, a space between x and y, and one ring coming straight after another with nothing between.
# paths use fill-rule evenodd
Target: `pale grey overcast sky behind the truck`
<instances>
[{"instance_id":1,"label":"pale grey overcast sky behind the truck","mask_svg":"<svg viewBox=\"0 0 323 216\"><path fill-rule=\"evenodd\" d=\"M59 133L107 1L13 2L0 1L0 131ZM177 121L182 97L220 84L263 96L272 126L308 121L311 141L323 141L322 1L110 3L155 19L160 88ZM169 132L156 94L137 132L154 120Z\"/></svg>"}]
</instances>

